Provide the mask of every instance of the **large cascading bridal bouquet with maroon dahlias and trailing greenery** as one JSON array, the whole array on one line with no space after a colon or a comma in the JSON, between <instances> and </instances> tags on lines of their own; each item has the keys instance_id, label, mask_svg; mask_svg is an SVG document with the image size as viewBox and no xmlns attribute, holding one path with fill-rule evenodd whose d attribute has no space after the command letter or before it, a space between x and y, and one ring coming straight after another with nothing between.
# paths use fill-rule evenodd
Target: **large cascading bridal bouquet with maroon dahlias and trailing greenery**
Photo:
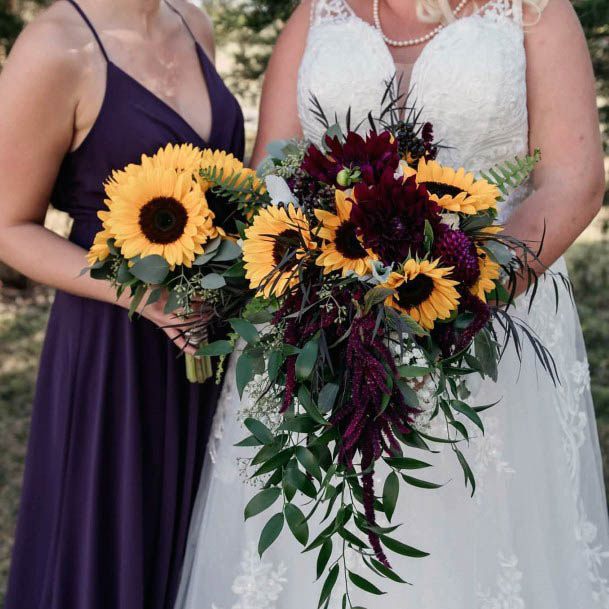
<instances>
[{"instance_id":1,"label":"large cascading bridal bouquet with maroon dahlias and trailing greenery","mask_svg":"<svg viewBox=\"0 0 609 609\"><path fill-rule=\"evenodd\" d=\"M250 435L240 446L256 448L261 486L245 517L274 509L259 552L287 524L318 552L325 608L339 577L343 607L353 607L351 586L382 593L349 568L347 549L373 577L398 582L390 553L427 556L396 539L391 522L403 485L437 487L416 474L430 465L411 448L450 447L473 494L460 445L484 432L490 406L468 403L469 375L496 379L507 343L521 353L525 337L556 381L550 353L511 313L519 279L535 291L539 250L497 224L498 204L538 154L476 178L435 160L432 127L413 113L370 122L363 138L326 121L321 147L289 143L263 169L267 192L241 201L256 296L232 339L208 347L228 353L245 341L235 369ZM315 514L324 528L310 539Z\"/></svg>"}]
</instances>

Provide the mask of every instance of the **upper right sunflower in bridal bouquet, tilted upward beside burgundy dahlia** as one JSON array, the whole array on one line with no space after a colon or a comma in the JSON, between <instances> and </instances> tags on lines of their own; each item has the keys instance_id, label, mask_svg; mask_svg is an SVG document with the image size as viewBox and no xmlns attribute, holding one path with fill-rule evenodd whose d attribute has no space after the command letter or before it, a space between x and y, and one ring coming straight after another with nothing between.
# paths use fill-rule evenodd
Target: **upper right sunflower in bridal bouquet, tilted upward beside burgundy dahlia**
<instances>
[{"instance_id":1,"label":"upper right sunflower in bridal bouquet, tilted upward beside burgundy dahlia","mask_svg":"<svg viewBox=\"0 0 609 609\"><path fill-rule=\"evenodd\" d=\"M501 193L486 180L476 180L465 169L444 167L436 161L421 159L417 169L417 182L424 184L429 198L448 211L477 214L496 209Z\"/></svg>"}]
</instances>

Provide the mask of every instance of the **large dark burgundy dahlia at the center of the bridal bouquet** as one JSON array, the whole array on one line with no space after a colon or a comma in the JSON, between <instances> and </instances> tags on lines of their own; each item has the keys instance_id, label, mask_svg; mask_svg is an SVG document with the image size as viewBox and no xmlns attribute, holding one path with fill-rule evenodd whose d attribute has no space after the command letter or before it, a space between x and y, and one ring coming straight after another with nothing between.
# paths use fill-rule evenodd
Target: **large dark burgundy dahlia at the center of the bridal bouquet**
<instances>
[{"instance_id":1,"label":"large dark burgundy dahlia at the center of the bridal bouquet","mask_svg":"<svg viewBox=\"0 0 609 609\"><path fill-rule=\"evenodd\" d=\"M351 221L364 246L385 264L425 254L425 221L435 232L440 208L430 201L425 187L417 185L415 177L404 182L386 170L378 185L356 185L354 198L357 205L351 210Z\"/></svg>"}]
</instances>

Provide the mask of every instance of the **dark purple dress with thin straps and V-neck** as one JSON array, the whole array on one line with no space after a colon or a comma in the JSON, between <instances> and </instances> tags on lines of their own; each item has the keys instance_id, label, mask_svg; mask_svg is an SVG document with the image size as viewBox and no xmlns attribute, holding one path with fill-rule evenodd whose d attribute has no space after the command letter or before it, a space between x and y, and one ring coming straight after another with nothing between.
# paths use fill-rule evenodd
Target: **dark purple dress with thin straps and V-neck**
<instances>
[{"instance_id":1,"label":"dark purple dress with thin straps and V-neck","mask_svg":"<svg viewBox=\"0 0 609 609\"><path fill-rule=\"evenodd\" d=\"M244 130L237 101L196 41L213 112L208 142L112 63L72 4L107 61L106 94L91 132L63 162L53 203L74 218L70 239L88 248L113 169L170 142L242 157ZM211 205L222 216L220 202ZM172 606L219 393L213 380L190 385L178 355L149 321L131 322L118 306L57 293L6 609Z\"/></svg>"}]
</instances>

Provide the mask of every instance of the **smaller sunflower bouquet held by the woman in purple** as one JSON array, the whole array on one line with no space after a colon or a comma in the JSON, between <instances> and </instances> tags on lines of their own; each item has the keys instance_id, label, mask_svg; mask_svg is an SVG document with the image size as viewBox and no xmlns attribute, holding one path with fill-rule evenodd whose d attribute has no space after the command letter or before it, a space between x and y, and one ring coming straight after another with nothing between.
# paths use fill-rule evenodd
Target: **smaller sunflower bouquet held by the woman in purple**
<instances>
[{"instance_id":1,"label":"smaller sunflower bouquet held by the woman in purple","mask_svg":"<svg viewBox=\"0 0 609 609\"><path fill-rule=\"evenodd\" d=\"M219 225L208 175L246 201L262 189L231 154L168 145L108 178L107 209L98 213L103 228L87 256L92 277L110 281L118 297L129 290L130 315L163 298L165 312L198 348L207 344L210 325L240 313L247 294L241 247L231 234L239 209ZM210 357L186 356L191 382L212 376Z\"/></svg>"}]
</instances>

